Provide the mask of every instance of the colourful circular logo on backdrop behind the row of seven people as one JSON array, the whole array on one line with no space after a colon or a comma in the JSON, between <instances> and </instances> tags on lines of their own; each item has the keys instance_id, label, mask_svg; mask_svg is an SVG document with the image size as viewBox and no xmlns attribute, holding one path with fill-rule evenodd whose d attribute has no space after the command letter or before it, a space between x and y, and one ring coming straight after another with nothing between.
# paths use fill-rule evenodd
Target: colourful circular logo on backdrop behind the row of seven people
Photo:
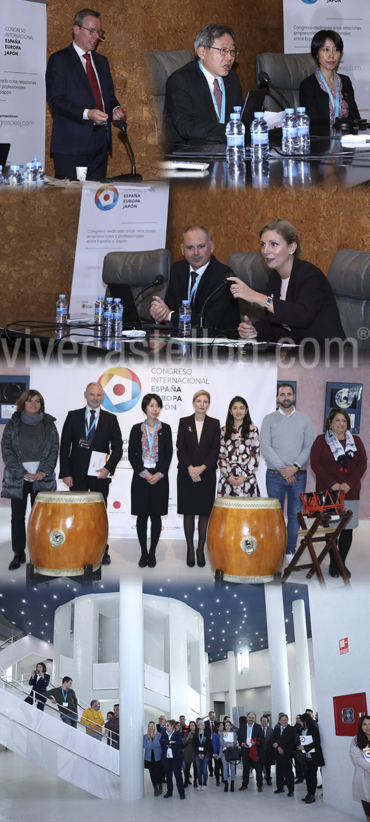
<instances>
[{"instance_id":1,"label":"colourful circular logo on backdrop behind the row of seven people","mask_svg":"<svg viewBox=\"0 0 370 822\"><path fill-rule=\"evenodd\" d=\"M130 368L116 366L107 368L98 380L104 388L102 408L113 413L130 411L141 395L141 381Z\"/></svg>"}]
</instances>

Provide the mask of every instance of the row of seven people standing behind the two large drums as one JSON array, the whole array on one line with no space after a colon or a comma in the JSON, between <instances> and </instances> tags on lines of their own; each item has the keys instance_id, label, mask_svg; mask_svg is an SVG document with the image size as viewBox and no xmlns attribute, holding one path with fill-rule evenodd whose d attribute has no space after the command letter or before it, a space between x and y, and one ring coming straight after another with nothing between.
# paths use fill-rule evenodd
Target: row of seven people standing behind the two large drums
<instances>
[{"instance_id":1,"label":"row of seven people standing behind the two large drums","mask_svg":"<svg viewBox=\"0 0 370 822\"><path fill-rule=\"evenodd\" d=\"M59 476L71 491L102 492L107 504L109 483L123 453L122 435L115 414L100 408L104 390L99 383L86 386L85 398L86 407L69 412L63 425ZM261 425L261 455L266 460L267 493L280 501L282 510L287 498L286 554L293 556L296 549L297 514L302 507L300 494L306 488L307 464L311 459L317 492L345 492L345 508L352 511L349 527L339 538L339 552L345 562L353 529L358 526L358 500L361 479L367 467L366 451L360 437L352 435L349 413L345 409L331 409L326 417L325 433L313 441L311 419L295 409L294 401L294 387L290 383L280 383L276 394L277 410L267 414ZM208 391L198 390L192 405L193 413L178 423L178 514L183 515L187 566L195 566L197 558L197 566L204 567L206 530L216 492L218 496L260 496L256 476L260 436L252 422L247 400L241 395L230 400L222 428L218 419L208 416ZM152 568L156 564L155 550L162 517L168 513L169 506L173 438L169 424L160 420L162 406L160 395L146 394L143 397L141 409L145 420L132 427L128 441L128 459L133 469L132 515L136 516L141 568ZM25 562L28 496L33 504L37 492L53 491L57 487L58 442L55 418L45 413L43 396L39 391L25 391L2 435L5 464L2 496L12 500L14 556L10 570ZM95 476L89 473L91 450L108 452L104 467L98 469ZM216 490L218 468L220 478ZM196 517L197 552L194 546ZM107 545L103 564L108 565L110 561ZM329 572L332 576L339 575L334 556L331 556Z\"/></svg>"}]
</instances>

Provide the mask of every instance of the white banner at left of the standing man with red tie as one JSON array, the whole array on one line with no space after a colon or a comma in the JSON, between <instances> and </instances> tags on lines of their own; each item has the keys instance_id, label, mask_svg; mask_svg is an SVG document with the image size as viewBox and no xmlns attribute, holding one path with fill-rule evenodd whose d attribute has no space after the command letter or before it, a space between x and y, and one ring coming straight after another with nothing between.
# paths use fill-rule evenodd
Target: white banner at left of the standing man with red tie
<instances>
[{"instance_id":1,"label":"white banner at left of the standing man with red tie","mask_svg":"<svg viewBox=\"0 0 370 822\"><path fill-rule=\"evenodd\" d=\"M45 157L46 4L0 2L0 143L7 164Z\"/></svg>"}]
</instances>

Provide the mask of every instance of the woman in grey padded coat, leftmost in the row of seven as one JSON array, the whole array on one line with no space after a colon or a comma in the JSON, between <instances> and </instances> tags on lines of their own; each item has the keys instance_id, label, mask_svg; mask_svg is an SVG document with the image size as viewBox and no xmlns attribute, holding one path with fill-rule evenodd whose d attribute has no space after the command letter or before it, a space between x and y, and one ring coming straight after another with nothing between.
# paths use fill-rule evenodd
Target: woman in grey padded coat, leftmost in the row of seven
<instances>
[{"instance_id":1,"label":"woman in grey padded coat, leftmost in the row of seven","mask_svg":"<svg viewBox=\"0 0 370 822\"><path fill-rule=\"evenodd\" d=\"M55 417L45 413L39 391L26 390L2 434L2 496L12 500L13 559L9 570L25 562L25 510L39 491L55 491L59 437Z\"/></svg>"}]
</instances>

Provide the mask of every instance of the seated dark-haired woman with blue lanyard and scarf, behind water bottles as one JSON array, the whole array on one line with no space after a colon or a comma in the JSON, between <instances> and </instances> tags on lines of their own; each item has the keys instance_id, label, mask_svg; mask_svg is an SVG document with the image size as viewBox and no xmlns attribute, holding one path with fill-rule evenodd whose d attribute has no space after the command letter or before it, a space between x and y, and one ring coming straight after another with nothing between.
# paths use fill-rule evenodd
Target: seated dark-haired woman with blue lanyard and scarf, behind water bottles
<instances>
[{"instance_id":1,"label":"seated dark-haired woman with blue lanyard and scarf, behind water bottles","mask_svg":"<svg viewBox=\"0 0 370 822\"><path fill-rule=\"evenodd\" d=\"M312 38L311 53L317 70L299 87L299 102L306 107L310 120L334 127L338 119L359 119L354 87L349 77L337 74L343 54L343 40L338 32L317 31Z\"/></svg>"}]
</instances>

